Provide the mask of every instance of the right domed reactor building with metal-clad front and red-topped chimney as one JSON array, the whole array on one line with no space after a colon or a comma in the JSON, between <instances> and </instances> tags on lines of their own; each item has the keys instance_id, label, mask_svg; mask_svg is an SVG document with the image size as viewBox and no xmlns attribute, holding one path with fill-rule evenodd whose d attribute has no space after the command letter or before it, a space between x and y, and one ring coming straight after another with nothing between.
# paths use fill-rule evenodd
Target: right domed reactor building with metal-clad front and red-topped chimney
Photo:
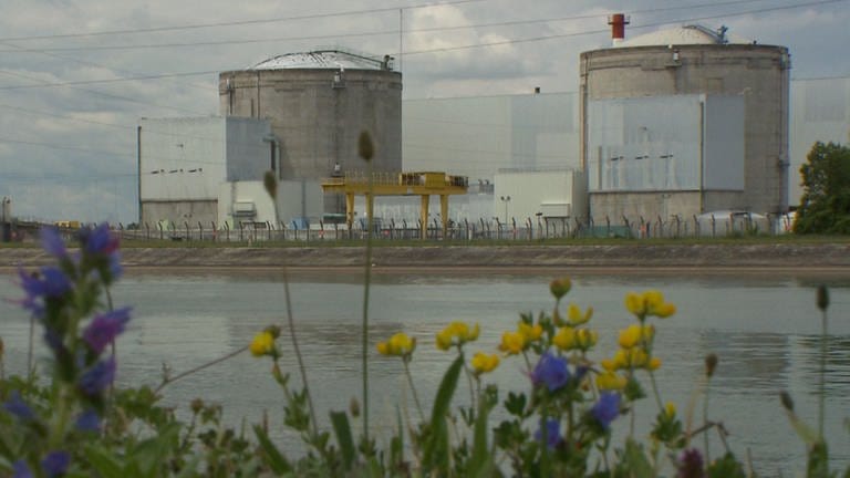
<instances>
[{"instance_id":1,"label":"right domed reactor building with metal-clad front and red-topped chimney","mask_svg":"<svg viewBox=\"0 0 850 478\"><path fill-rule=\"evenodd\" d=\"M582 163L594 220L786 212L785 46L685 25L581 53Z\"/></svg>"}]
</instances>

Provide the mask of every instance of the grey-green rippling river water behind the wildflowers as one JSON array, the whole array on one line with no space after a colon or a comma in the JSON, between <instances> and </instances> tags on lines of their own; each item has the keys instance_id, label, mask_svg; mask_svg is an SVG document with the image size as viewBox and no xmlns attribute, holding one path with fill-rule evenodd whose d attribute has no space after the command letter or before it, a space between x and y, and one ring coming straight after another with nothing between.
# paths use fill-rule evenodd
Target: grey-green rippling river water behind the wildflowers
<instances>
[{"instance_id":1,"label":"grey-green rippling river water behind the wildflowers","mask_svg":"<svg viewBox=\"0 0 850 478\"><path fill-rule=\"evenodd\" d=\"M495 352L501 333L514 329L521 311L551 310L548 283L551 273L499 273L470 270L463 273L400 273L375 269L371 291L372 343L404 331L418 339L412 372L423 405L431 404L436 386L453 355L434 347L434 334L449 321L478 322L479 340L470 352ZM628 291L660 289L678 313L656 321L657 373L664 401L684 413L703 373L703 357L714 352L719 365L712 382L709 418L722 420L732 434L728 441L739 457L747 450L761 475L795 476L805 466L805 447L789 425L779 392L788 391L799 415L817 422L820 315L815 288L830 287L828 340L827 425L833 466L850 464L850 274L708 274L647 272L613 276L582 272L572 276L567 297L595 310L591 325L600 333L593 356L610 356L618 330L629 325L623 308ZM11 276L0 276L0 298L21 294ZM114 289L116 305L132 305L133 320L117 346L123 384L157 385L163 364L174 373L191 368L243 345L269 324L283 324L286 301L279 271L131 272ZM344 409L361 392L362 272L291 271L292 310L308 380L320 414ZM29 321L8 301L0 301L0 336L7 347L7 373L25 368ZM289 334L281 340L281 364L298 383L297 363ZM371 349L374 351L374 346ZM43 357L43 347L37 355ZM398 360L371 352L372 419L379 437L388 439L396 404L410 398ZM226 418L239 424L259 422L267 411L271 424L281 423L282 394L269 376L267 361L247 354L204 370L164 391L164 402L188 408L194 397L218 402ZM507 389L526 391L528 378L521 360L507 358L488 377ZM462 382L457 401L468 401ZM405 403L410 403L405 402ZM702 406L698 408L702 411ZM415 415L412 404L402 413ZM652 399L638 407L639 432L649 432L655 413ZM628 420L615 422L619 429ZM383 428L381 428L383 427ZM384 430L384 432L380 432ZM280 426L274 437L284 448L298 449L297 439ZM698 443L702 443L699 440ZM721 453L712 435L712 454Z\"/></svg>"}]
</instances>

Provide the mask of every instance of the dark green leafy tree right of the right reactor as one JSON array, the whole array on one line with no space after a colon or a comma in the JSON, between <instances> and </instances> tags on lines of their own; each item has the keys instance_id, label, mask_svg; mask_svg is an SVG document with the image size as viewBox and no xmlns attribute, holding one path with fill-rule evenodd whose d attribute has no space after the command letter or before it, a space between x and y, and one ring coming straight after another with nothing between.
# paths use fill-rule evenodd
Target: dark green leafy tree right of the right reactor
<instances>
[{"instance_id":1,"label":"dark green leafy tree right of the right reactor","mask_svg":"<svg viewBox=\"0 0 850 478\"><path fill-rule=\"evenodd\" d=\"M799 233L850 233L850 147L815 143L802 165Z\"/></svg>"}]
</instances>

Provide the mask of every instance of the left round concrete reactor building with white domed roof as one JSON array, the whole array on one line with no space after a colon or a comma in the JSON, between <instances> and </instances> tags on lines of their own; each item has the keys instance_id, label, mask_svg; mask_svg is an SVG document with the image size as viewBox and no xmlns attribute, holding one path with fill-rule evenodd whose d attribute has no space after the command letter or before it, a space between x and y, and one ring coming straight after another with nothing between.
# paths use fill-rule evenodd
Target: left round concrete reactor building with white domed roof
<instances>
[{"instance_id":1,"label":"left round concrete reactor building with white domed roof","mask_svg":"<svg viewBox=\"0 0 850 478\"><path fill-rule=\"evenodd\" d=\"M267 119L280 179L320 179L366 165L357 137L374 144L373 168L402 168L402 74L392 58L322 50L290 53L219 74L225 116Z\"/></svg>"}]
</instances>

